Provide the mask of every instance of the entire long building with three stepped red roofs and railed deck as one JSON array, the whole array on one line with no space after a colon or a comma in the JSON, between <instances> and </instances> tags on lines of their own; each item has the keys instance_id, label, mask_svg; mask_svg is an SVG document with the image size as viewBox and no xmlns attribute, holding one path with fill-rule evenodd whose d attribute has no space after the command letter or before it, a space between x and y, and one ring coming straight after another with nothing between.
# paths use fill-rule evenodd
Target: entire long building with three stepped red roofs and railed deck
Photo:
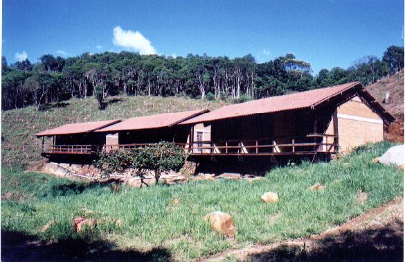
<instances>
[{"instance_id":1,"label":"entire long building with three stepped red roofs and railed deck","mask_svg":"<svg viewBox=\"0 0 405 262\"><path fill-rule=\"evenodd\" d=\"M159 141L179 144L200 161L242 157L330 157L384 140L395 118L360 82L228 105L125 121L64 125L37 137L53 137L43 154L93 154L128 150ZM264 158L263 158L264 157Z\"/></svg>"}]
</instances>

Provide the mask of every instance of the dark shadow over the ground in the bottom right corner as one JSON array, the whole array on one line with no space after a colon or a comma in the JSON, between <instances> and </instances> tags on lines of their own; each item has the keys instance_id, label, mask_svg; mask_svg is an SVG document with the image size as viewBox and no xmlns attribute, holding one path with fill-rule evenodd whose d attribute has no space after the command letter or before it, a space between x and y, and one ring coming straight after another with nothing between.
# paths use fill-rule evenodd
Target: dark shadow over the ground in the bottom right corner
<instances>
[{"instance_id":1,"label":"dark shadow over the ground in the bottom right corner","mask_svg":"<svg viewBox=\"0 0 405 262\"><path fill-rule=\"evenodd\" d=\"M403 261L402 221L389 226L347 231L306 245L281 245L276 250L251 254L248 261Z\"/></svg>"}]
</instances>

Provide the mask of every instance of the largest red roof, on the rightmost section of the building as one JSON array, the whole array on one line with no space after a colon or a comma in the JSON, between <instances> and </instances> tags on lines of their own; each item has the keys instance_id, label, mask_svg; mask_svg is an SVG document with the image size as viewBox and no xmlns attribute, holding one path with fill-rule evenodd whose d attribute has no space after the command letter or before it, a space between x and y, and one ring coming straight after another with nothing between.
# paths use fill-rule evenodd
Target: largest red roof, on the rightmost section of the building
<instances>
[{"instance_id":1,"label":"largest red roof, on the rightmost section of the building","mask_svg":"<svg viewBox=\"0 0 405 262\"><path fill-rule=\"evenodd\" d=\"M201 116L189 119L188 121L183 121L180 124L202 123L219 119L230 119L237 116L268 114L286 110L297 110L305 107L314 107L332 96L336 96L343 91L357 86L363 88L361 82L349 82L344 85L335 85L333 87L303 91L285 96L272 96L245 103L227 105L208 114L202 114Z\"/></svg>"}]
</instances>

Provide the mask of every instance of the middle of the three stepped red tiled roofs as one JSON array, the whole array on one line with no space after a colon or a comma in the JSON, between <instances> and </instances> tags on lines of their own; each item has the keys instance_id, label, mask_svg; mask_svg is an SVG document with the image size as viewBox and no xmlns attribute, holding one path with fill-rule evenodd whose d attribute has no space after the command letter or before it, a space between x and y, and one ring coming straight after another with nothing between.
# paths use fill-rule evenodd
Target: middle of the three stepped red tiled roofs
<instances>
[{"instance_id":1,"label":"middle of the three stepped red tiled roofs","mask_svg":"<svg viewBox=\"0 0 405 262\"><path fill-rule=\"evenodd\" d=\"M194 110L177 113L155 114L152 116L139 116L127 119L107 128L96 130L96 132L116 132L121 130L143 130L151 128L167 128L181 121L185 121L194 116L199 116L209 112L209 110Z\"/></svg>"}]
</instances>

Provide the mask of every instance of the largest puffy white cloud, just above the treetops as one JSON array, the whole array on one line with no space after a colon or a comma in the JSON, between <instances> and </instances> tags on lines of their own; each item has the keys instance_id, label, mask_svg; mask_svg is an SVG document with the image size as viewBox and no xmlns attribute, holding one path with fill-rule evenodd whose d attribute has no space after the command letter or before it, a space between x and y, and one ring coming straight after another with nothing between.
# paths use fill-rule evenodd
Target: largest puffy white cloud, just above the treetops
<instances>
[{"instance_id":1,"label":"largest puffy white cloud, just above the treetops","mask_svg":"<svg viewBox=\"0 0 405 262\"><path fill-rule=\"evenodd\" d=\"M127 49L134 49L141 55L154 55L156 50L149 40L145 38L141 32L132 30L123 30L120 26L116 26L113 30L113 44L123 46Z\"/></svg>"}]
</instances>

